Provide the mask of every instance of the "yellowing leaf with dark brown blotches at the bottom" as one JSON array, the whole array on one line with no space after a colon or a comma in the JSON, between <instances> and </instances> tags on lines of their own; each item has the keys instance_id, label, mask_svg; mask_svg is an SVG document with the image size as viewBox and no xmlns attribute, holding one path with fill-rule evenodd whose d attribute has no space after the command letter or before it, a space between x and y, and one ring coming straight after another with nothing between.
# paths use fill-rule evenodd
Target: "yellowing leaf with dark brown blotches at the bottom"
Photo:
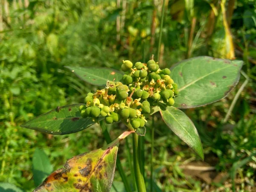
<instances>
[{"instance_id":1,"label":"yellowing leaf with dark brown blotches at the bottom","mask_svg":"<svg viewBox=\"0 0 256 192\"><path fill-rule=\"evenodd\" d=\"M77 155L49 175L34 192L109 192L118 146Z\"/></svg>"}]
</instances>

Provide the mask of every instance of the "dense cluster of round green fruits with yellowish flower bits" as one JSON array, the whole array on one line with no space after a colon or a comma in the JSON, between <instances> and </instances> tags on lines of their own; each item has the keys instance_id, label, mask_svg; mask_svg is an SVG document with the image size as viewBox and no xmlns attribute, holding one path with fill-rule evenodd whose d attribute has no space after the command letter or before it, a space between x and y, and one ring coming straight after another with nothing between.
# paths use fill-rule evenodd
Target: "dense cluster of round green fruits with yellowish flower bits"
<instances>
[{"instance_id":1,"label":"dense cluster of round green fruits with yellowish flower bits","mask_svg":"<svg viewBox=\"0 0 256 192\"><path fill-rule=\"evenodd\" d=\"M86 105L79 108L82 117L97 121L102 116L108 124L122 120L137 129L145 125L152 107L160 102L174 105L178 89L169 69L161 70L153 59L135 65L126 60L121 69L126 73L121 82L107 81L105 89L87 94Z\"/></svg>"}]
</instances>

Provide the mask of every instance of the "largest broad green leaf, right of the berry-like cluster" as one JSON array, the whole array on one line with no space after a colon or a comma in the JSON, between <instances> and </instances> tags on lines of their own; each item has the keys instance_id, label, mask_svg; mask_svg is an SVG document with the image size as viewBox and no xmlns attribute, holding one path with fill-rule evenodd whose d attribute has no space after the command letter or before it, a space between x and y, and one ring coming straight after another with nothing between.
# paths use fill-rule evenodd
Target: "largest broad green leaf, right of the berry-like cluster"
<instances>
[{"instance_id":1,"label":"largest broad green leaf, right of the berry-like cluster","mask_svg":"<svg viewBox=\"0 0 256 192\"><path fill-rule=\"evenodd\" d=\"M177 108L195 108L218 101L236 86L243 61L215 59L207 56L181 61L171 68L178 84Z\"/></svg>"}]
</instances>

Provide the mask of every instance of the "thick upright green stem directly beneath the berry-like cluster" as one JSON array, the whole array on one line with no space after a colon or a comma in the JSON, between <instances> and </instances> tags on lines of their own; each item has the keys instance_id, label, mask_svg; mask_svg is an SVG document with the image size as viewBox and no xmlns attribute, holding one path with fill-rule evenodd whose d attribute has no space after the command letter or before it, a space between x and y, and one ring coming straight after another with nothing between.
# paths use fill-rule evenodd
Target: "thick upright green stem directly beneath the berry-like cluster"
<instances>
[{"instance_id":1,"label":"thick upright green stem directly beneath the berry-like cluster","mask_svg":"<svg viewBox=\"0 0 256 192\"><path fill-rule=\"evenodd\" d=\"M137 183L137 189L139 192L146 192L145 181L144 181L144 177L141 172L140 163L139 163L139 154L138 154L139 136L136 133L134 133L132 134L132 138L133 138L134 173L135 173L135 178Z\"/></svg>"}]
</instances>

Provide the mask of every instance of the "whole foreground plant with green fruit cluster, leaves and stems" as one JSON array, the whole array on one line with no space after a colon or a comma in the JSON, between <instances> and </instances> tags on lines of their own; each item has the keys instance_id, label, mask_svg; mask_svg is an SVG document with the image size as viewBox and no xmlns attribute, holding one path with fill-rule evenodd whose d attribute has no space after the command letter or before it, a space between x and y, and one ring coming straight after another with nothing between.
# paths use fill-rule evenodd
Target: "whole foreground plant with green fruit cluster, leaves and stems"
<instances>
[{"instance_id":1,"label":"whole foreground plant with green fruit cluster, leaves and stems","mask_svg":"<svg viewBox=\"0 0 256 192\"><path fill-rule=\"evenodd\" d=\"M84 104L57 107L22 126L48 134L71 134L100 123L109 144L71 158L34 191L109 192L115 166L126 191L135 191L117 158L119 141L132 134L136 188L138 192L146 192L138 138L145 135L145 123L158 111L166 125L204 159L195 125L179 108L195 108L227 96L239 81L242 64L242 61L202 56L181 61L171 70L160 69L153 58L147 64L123 61L122 72L67 67L82 80L104 86L103 89L88 93ZM105 123L116 122L124 123L127 131L110 142Z\"/></svg>"}]
</instances>

